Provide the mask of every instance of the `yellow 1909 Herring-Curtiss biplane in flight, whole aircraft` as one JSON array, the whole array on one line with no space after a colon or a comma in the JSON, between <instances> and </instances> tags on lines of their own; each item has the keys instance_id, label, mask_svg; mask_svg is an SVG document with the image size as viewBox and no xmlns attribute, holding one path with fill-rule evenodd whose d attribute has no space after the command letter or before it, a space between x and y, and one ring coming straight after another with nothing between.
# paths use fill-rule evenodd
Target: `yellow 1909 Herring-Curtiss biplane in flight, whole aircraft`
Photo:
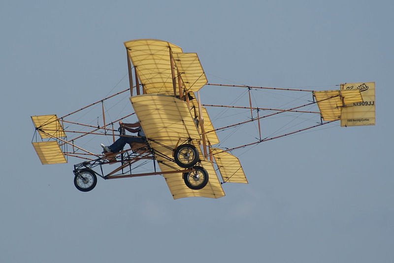
<instances>
[{"instance_id":1,"label":"yellow 1909 Herring-Curtiss biplane in flight, whole aircraft","mask_svg":"<svg viewBox=\"0 0 394 263\"><path fill-rule=\"evenodd\" d=\"M323 91L208 84L196 53L184 53L174 44L155 39L131 40L124 44L130 87L63 117L32 116L35 129L32 143L41 163L61 164L68 162L68 158L81 160L74 165L73 176L75 187L83 192L91 191L96 186L98 176L116 179L163 175L174 199L220 198L225 196L223 183L248 183L240 161L231 153L232 150L338 120L341 126L375 124L373 82L341 84L338 90ZM249 105L229 107L250 110L251 118L215 129L206 107L226 106L201 104L199 90L206 85L247 88ZM313 101L290 109L252 107L251 89L311 92ZM130 96L126 95L129 92ZM104 102L119 96L130 99L133 112L111 121L107 117L106 121ZM317 105L319 111L300 111L300 108L309 105ZM97 125L77 122L92 107L101 108L101 125L99 119ZM253 116L254 111L257 116ZM262 111L272 113L260 116ZM279 136L262 137L260 121L263 119L284 113L306 112L318 114L320 123ZM91 140L82 142L88 137L99 135L111 142L115 142L117 136L133 137L122 126L116 129L115 125L118 121L135 117L146 136L141 138L143 143L132 143L119 152L98 152L89 149L93 144ZM258 122L259 127L259 136L255 142L232 148L215 146L220 142L218 131L252 121ZM222 181L216 171L220 172Z\"/></svg>"}]
</instances>

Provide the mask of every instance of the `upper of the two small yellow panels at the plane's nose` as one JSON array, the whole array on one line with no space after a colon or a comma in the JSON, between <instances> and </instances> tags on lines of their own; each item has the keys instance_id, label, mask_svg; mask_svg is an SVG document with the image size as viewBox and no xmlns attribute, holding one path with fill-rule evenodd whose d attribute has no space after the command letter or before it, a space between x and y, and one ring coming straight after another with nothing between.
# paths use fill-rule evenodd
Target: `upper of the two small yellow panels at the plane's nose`
<instances>
[{"instance_id":1,"label":"upper of the two small yellow panels at the plane's nose","mask_svg":"<svg viewBox=\"0 0 394 263\"><path fill-rule=\"evenodd\" d=\"M62 124L56 115L32 116L32 120L42 139L66 137Z\"/></svg>"}]
</instances>

